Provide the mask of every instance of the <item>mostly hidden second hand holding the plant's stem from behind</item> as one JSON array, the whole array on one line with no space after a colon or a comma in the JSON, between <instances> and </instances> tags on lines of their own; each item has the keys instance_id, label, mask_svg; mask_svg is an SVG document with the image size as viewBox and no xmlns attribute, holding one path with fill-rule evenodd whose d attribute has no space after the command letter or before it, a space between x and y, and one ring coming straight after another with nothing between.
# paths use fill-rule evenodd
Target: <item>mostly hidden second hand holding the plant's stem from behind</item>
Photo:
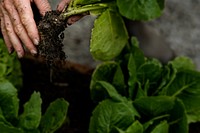
<instances>
[{"instance_id":1,"label":"mostly hidden second hand holding the plant's stem from behind","mask_svg":"<svg viewBox=\"0 0 200 133\"><path fill-rule=\"evenodd\" d=\"M57 6L57 10L62 12L69 5L70 1L71 0L62 0ZM85 15L86 14L71 16L70 18L67 19L67 24L71 25L75 23L76 21L78 21L79 19L81 19Z\"/></svg>"}]
</instances>

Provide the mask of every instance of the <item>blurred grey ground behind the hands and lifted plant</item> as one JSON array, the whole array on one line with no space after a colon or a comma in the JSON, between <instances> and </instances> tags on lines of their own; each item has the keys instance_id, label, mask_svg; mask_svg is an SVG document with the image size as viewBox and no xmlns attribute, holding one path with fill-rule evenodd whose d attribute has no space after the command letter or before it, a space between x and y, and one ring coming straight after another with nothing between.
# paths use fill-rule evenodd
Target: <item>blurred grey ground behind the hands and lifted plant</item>
<instances>
[{"instance_id":1,"label":"blurred grey ground behind the hands and lifted plant","mask_svg":"<svg viewBox=\"0 0 200 133\"><path fill-rule=\"evenodd\" d=\"M56 9L60 0L49 0ZM163 15L150 22L127 21L129 33L137 36L146 56L166 63L175 56L190 57L200 70L200 0L166 0ZM67 60L90 67L97 64L89 52L95 17L85 16L65 30Z\"/></svg>"}]
</instances>

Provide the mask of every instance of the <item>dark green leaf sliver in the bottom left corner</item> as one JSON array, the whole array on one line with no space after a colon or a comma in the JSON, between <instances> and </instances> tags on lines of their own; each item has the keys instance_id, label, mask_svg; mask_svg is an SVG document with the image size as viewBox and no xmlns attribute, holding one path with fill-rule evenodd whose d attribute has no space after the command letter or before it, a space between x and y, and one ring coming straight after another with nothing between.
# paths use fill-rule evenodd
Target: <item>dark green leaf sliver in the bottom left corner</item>
<instances>
[{"instance_id":1,"label":"dark green leaf sliver in the bottom left corner","mask_svg":"<svg viewBox=\"0 0 200 133\"><path fill-rule=\"evenodd\" d=\"M8 126L0 122L1 133L24 133L20 128Z\"/></svg>"}]
</instances>

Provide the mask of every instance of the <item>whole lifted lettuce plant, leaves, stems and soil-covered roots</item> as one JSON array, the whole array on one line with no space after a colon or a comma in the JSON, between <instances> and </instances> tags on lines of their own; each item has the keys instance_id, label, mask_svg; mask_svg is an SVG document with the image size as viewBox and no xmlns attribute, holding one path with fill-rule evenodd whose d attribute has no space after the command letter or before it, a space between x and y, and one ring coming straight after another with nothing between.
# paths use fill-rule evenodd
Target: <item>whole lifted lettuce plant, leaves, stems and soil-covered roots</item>
<instances>
[{"instance_id":1,"label":"whole lifted lettuce plant, leaves, stems and soil-covered roots","mask_svg":"<svg viewBox=\"0 0 200 133\"><path fill-rule=\"evenodd\" d=\"M63 52L59 52L62 44L57 46L60 43L57 37L64 30L65 22L70 16L84 13L98 15L91 34L92 56L97 60L111 60L120 54L128 42L129 36L123 18L147 21L160 16L163 8L164 0L72 0L57 17L48 20L47 13L39 23L39 54L46 56L50 61L54 58L65 59ZM48 40L51 40L49 44ZM49 56L50 53L54 55Z\"/></svg>"}]
</instances>

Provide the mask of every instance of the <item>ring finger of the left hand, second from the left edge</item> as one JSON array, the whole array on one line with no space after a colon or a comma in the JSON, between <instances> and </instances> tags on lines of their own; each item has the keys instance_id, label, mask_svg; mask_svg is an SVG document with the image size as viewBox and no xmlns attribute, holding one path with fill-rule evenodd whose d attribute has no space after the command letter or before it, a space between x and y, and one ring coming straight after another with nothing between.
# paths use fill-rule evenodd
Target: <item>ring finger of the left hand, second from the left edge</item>
<instances>
[{"instance_id":1,"label":"ring finger of the left hand, second from the left edge","mask_svg":"<svg viewBox=\"0 0 200 133\"><path fill-rule=\"evenodd\" d=\"M17 52L18 57L21 58L24 56L24 50L23 50L22 44L13 30L12 23L8 16L8 13L6 12L6 10L4 8L1 8L1 9L2 9L2 13L4 14L4 18L3 18L4 27L5 27L4 32L6 32L10 43L12 44L15 51ZM9 44L8 41L7 41L7 43Z\"/></svg>"}]
</instances>

